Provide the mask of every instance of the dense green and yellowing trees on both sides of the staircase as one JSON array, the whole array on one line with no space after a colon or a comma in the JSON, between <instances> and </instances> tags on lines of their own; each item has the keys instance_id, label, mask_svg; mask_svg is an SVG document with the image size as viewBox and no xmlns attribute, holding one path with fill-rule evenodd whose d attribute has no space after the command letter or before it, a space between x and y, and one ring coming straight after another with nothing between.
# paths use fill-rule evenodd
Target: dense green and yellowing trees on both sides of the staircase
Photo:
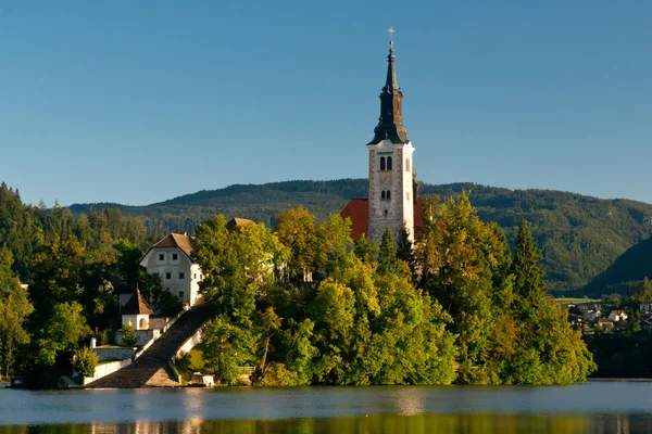
<instances>
[{"instance_id":1,"label":"dense green and yellowing trees on both sides of the staircase","mask_svg":"<svg viewBox=\"0 0 652 434\"><path fill-rule=\"evenodd\" d=\"M527 222L512 252L466 193L423 204L414 250L404 231L377 245L353 241L350 221L303 207L280 212L273 227L229 231L223 215L197 226L193 258L215 314L204 358L216 380L237 383L242 366L255 367L260 385L586 380L595 365L546 295ZM138 266L154 241L139 218L32 207L4 184L0 213L3 374L52 386L90 336L111 340L122 291L138 285L154 308L175 308Z\"/></svg>"}]
</instances>

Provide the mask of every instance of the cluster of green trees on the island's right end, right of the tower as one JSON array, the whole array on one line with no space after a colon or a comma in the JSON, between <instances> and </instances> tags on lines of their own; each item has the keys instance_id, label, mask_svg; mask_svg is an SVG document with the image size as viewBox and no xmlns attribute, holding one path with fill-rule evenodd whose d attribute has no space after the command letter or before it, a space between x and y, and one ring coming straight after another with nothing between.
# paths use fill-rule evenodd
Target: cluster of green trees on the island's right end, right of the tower
<instances>
[{"instance_id":1,"label":"cluster of green trees on the island's right end, right of the tower","mask_svg":"<svg viewBox=\"0 0 652 434\"><path fill-rule=\"evenodd\" d=\"M468 197L424 200L416 250L419 285L437 298L457 335L461 383L564 384L594 369L578 331L546 297L540 253L523 222L514 263L496 226Z\"/></svg>"}]
</instances>

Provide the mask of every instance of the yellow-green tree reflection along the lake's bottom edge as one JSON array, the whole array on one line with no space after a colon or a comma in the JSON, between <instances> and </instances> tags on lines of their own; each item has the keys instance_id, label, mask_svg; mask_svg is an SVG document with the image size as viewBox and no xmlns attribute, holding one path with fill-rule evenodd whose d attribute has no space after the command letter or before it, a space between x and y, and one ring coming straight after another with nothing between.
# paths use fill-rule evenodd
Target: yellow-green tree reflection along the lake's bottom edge
<instances>
[{"instance_id":1,"label":"yellow-green tree reflection along the lake's bottom edge","mask_svg":"<svg viewBox=\"0 0 652 434\"><path fill-rule=\"evenodd\" d=\"M0 426L0 434L358 434L358 433L615 433L652 432L652 418L647 414L376 414L352 418L300 418L289 420L220 420L181 422L137 422L60 424L36 426Z\"/></svg>"}]
</instances>

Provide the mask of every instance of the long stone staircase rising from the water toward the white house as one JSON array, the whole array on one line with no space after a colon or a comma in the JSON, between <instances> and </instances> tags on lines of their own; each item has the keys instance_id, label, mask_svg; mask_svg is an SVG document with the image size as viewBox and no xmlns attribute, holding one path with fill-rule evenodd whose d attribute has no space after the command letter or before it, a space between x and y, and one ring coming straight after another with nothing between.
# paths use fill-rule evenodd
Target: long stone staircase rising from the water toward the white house
<instances>
[{"instance_id":1,"label":"long stone staircase rising from the water toward the white house","mask_svg":"<svg viewBox=\"0 0 652 434\"><path fill-rule=\"evenodd\" d=\"M168 360L197 329L211 318L211 306L192 306L131 365L88 383L88 388L175 387Z\"/></svg>"}]
</instances>

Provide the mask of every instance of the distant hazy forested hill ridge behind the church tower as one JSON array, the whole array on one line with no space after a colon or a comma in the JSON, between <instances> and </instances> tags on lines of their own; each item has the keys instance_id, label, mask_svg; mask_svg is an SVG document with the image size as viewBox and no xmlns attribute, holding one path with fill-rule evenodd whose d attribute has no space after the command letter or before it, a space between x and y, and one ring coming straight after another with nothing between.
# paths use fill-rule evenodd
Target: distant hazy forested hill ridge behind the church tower
<instances>
[{"instance_id":1,"label":"distant hazy forested hill ridge behind the church tower","mask_svg":"<svg viewBox=\"0 0 652 434\"><path fill-rule=\"evenodd\" d=\"M552 190L507 190L473 183L422 184L419 193L442 196L471 190L481 219L497 221L513 243L521 220L530 222L543 254L551 290L578 290L604 271L627 248L652 234L652 205L629 200L600 200ZM342 208L349 199L366 197L365 179L287 181L203 190L148 206L76 204L73 213L92 206L118 207L140 216L150 232L193 232L214 214L246 217L274 226L283 209L303 205L318 219Z\"/></svg>"}]
</instances>

